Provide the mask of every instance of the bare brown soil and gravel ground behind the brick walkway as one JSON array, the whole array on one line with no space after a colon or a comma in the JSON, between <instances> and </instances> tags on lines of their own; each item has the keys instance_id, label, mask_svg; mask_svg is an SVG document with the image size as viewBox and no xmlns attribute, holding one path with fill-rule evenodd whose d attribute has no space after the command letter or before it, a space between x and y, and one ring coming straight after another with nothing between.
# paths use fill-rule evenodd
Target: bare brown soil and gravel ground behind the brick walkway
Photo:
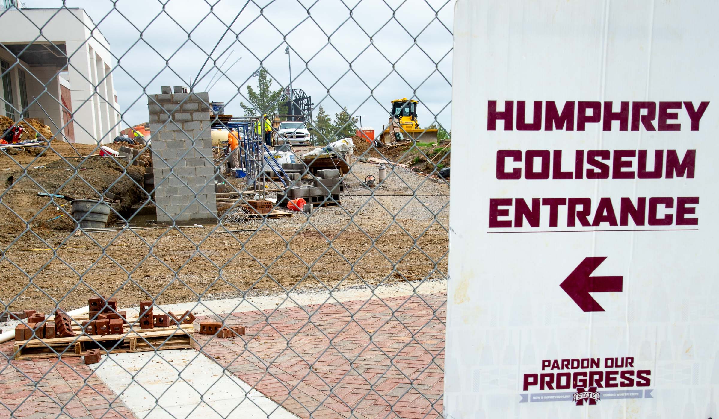
<instances>
[{"instance_id":1,"label":"bare brown soil and gravel ground behind the brick walkway","mask_svg":"<svg viewBox=\"0 0 719 419\"><path fill-rule=\"evenodd\" d=\"M73 155L65 144L53 147L64 156ZM84 154L93 147L79 148ZM45 154L13 157L20 166L32 167L58 160L54 152ZM0 156L0 170L14 172L19 165ZM92 167L78 174L88 183L98 182L96 187L109 185L104 178L89 179L95 172L105 173L104 168ZM60 174L69 172L64 168ZM45 240L41 241L31 232L19 235L12 225L17 224L16 216L10 217L13 221L2 219L0 301L10 310L52 310L56 302L69 310L86 305L96 294L114 295L122 306L130 306L150 298L157 298L158 304L181 303L446 277L449 185L396 167L382 188L370 190L360 182L368 174L376 176L377 165L354 164L345 178L348 190L342 206L316 208L311 216L297 213L257 221L252 225L256 231L232 234L212 225L73 236L47 224L31 225L32 231L40 231L38 236ZM114 176L127 175L117 171ZM66 180L33 178L47 184L48 191ZM232 183L242 186L242 180ZM2 203L26 208L24 217L47 203L47 198L44 203L35 201L40 197L33 197L34 183L35 187L22 187L24 194L14 191L19 184L11 185ZM5 218L9 211L4 206L2 211ZM36 219L55 214L55 207L47 207ZM21 227L22 232L24 224Z\"/></svg>"}]
</instances>

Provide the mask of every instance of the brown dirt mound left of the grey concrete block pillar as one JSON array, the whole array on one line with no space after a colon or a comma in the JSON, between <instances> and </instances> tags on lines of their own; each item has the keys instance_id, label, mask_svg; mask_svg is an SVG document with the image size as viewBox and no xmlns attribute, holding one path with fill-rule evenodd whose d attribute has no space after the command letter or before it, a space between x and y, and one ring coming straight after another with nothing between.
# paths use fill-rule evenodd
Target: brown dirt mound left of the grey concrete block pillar
<instances>
[{"instance_id":1,"label":"brown dirt mound left of the grey concrete block pillar","mask_svg":"<svg viewBox=\"0 0 719 419\"><path fill-rule=\"evenodd\" d=\"M75 166L77 165L77 174ZM6 193L4 205L0 208L0 239L12 239L26 229L26 222L36 233L48 230L72 230L75 221L70 200L38 196L43 189L47 193L65 195L68 198L99 199L108 188L121 200L112 207L121 215L127 214L132 205L145 197L137 187L142 185L145 167L122 167L104 157L91 157L85 162L70 164L63 160L52 160L44 165L12 169L3 172ZM133 182L134 180L134 182ZM42 187L42 188L41 188ZM116 219L110 214L109 225Z\"/></svg>"}]
</instances>

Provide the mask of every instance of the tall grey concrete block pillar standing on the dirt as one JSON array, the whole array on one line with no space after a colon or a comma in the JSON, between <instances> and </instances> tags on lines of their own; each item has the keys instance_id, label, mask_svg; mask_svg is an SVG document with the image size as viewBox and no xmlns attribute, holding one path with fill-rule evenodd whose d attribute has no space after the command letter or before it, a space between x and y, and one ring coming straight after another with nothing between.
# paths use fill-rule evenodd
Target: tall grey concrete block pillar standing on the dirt
<instances>
[{"instance_id":1,"label":"tall grey concrete block pillar standing on the dirt","mask_svg":"<svg viewBox=\"0 0 719 419\"><path fill-rule=\"evenodd\" d=\"M164 86L147 98L157 221L163 223L217 217L209 95L186 91Z\"/></svg>"}]
</instances>

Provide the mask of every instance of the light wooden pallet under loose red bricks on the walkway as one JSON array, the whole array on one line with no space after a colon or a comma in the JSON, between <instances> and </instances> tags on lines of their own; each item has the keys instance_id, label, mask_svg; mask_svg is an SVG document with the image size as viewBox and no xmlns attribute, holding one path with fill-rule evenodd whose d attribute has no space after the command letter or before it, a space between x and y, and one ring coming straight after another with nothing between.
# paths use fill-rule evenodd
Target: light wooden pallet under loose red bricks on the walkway
<instances>
[{"instance_id":1,"label":"light wooden pallet under loose red bricks on the walkway","mask_svg":"<svg viewBox=\"0 0 719 419\"><path fill-rule=\"evenodd\" d=\"M84 318L82 318L84 317ZM87 320L87 316L78 316L75 321ZM130 320L132 323L134 320ZM55 339L32 339L30 341L15 341L15 359L43 359L55 358L55 354L62 356L85 356L90 349L111 350L113 354L128 352L145 352L162 349L188 349L192 348L192 339L195 333L192 324L152 328L131 329L122 335L87 336L81 334L81 326L73 322L73 331L77 336ZM169 337L168 337L169 336ZM104 352L103 352L104 354Z\"/></svg>"}]
</instances>

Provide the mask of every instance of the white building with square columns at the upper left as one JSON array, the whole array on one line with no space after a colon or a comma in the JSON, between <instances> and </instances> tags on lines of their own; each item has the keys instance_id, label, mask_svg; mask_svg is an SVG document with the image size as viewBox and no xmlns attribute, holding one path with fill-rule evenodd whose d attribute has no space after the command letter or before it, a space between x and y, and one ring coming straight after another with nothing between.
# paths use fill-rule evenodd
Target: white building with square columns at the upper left
<instances>
[{"instance_id":1,"label":"white building with square columns at the upper left","mask_svg":"<svg viewBox=\"0 0 719 419\"><path fill-rule=\"evenodd\" d=\"M9 9L0 16L0 27L12 27L12 31L4 31L1 37L2 43L28 43L53 42L56 45L64 44L69 57L68 73L70 78L70 96L73 107L73 121L75 121L75 142L86 144L97 144L98 142L109 142L119 134L119 126L111 121L112 116L119 114L119 106L114 101L112 88L112 73L107 68L113 68L112 56L109 52L110 45L104 36L89 28L95 27L90 17L83 9L22 9L17 11ZM42 27L42 36L38 38L37 27ZM11 60L14 62L14 60ZM55 75L61 69L33 67L28 68L37 78L43 81L45 77ZM40 77L42 75L42 77ZM32 78L28 74L28 78ZM60 110L60 93L57 82L52 82L53 92L57 88L58 93L52 93L54 98L42 98L42 106L48 100L55 101L55 106L45 107L50 113ZM0 93L1 94L1 93ZM28 100L32 98L28 90ZM14 98L19 106L19 97ZM111 111L111 109L113 109ZM51 113L55 120L55 114ZM62 126L61 111L55 123ZM31 108L31 117L47 119L42 114L35 114ZM55 126L51 126L53 132Z\"/></svg>"}]
</instances>

